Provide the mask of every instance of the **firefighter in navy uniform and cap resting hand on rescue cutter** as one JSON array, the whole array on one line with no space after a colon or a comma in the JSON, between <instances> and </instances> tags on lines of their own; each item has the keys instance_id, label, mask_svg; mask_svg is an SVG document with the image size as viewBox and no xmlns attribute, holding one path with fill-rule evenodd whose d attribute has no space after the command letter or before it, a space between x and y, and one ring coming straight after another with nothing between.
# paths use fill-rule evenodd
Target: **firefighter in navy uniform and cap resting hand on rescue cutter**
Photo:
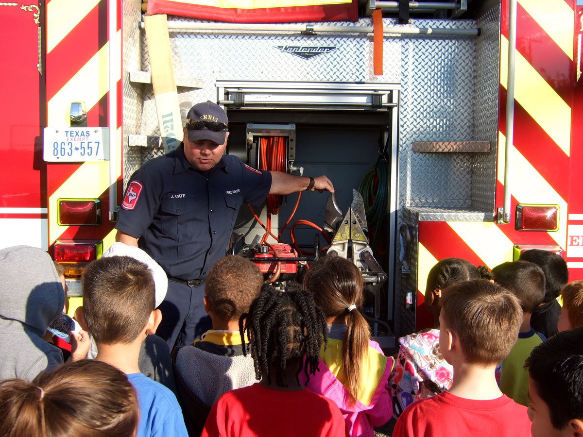
<instances>
[{"instance_id":1,"label":"firefighter in navy uniform and cap resting hand on rescue cutter","mask_svg":"<svg viewBox=\"0 0 583 437\"><path fill-rule=\"evenodd\" d=\"M204 282L210 267L225 255L244 202L259 206L268 194L334 191L326 176L260 171L224 155L228 122L219 105L194 105L178 149L132 175L115 225L116 241L139 246L168 275L157 333L170 349L192 344L210 329Z\"/></svg>"}]
</instances>

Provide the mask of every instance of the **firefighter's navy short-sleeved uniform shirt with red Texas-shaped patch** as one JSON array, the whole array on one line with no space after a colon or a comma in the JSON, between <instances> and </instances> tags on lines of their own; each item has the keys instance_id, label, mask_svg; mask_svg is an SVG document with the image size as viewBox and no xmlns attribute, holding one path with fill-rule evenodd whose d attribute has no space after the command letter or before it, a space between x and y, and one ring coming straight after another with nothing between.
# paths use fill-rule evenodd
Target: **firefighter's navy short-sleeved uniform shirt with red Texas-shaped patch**
<instances>
[{"instance_id":1,"label":"firefighter's navy short-sleeved uniform shirt with red Texas-shaped patch","mask_svg":"<svg viewBox=\"0 0 583 437\"><path fill-rule=\"evenodd\" d=\"M132 175L115 228L139 238L168 277L206 279L225 256L241 204L261 205L270 188L271 173L232 155L195 170L181 144Z\"/></svg>"}]
</instances>

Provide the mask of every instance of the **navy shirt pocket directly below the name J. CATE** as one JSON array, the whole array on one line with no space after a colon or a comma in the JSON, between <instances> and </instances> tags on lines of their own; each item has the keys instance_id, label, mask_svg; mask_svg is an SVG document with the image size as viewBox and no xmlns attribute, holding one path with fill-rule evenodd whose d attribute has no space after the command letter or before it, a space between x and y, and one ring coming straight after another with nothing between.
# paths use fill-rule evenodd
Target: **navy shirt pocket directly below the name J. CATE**
<instances>
[{"instance_id":1,"label":"navy shirt pocket directly below the name J. CATE","mask_svg":"<svg viewBox=\"0 0 583 437\"><path fill-rule=\"evenodd\" d=\"M191 228L194 228L192 214L196 210L196 198L188 194L184 196L168 196L160 203L162 232L176 241L180 241L182 235L191 235Z\"/></svg>"}]
</instances>

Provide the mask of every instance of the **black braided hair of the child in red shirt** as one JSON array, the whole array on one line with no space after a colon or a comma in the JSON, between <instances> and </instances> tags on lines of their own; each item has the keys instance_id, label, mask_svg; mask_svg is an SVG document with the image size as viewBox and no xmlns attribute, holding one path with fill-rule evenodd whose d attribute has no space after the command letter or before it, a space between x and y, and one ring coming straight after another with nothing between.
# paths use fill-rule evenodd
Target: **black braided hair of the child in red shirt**
<instances>
[{"instance_id":1,"label":"black braided hair of the child in red shirt","mask_svg":"<svg viewBox=\"0 0 583 437\"><path fill-rule=\"evenodd\" d=\"M251 342L251 355L255 364L255 378L266 378L271 384L270 366L277 369L275 382L286 387L283 382L289 360L304 361L306 378L318 371L318 360L322 344L328 343L328 328L324 312L314 304L310 292L302 290L298 284L290 285L286 291L278 291L265 285L255 299L248 313L239 319L243 354L244 334ZM302 366L298 366L296 380Z\"/></svg>"}]
</instances>

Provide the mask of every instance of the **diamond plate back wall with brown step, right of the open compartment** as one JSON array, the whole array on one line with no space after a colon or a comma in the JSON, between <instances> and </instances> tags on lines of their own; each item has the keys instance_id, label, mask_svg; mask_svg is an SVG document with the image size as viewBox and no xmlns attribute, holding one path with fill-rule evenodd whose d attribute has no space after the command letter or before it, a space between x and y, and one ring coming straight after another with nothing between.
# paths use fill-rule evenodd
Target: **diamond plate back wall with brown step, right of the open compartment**
<instances>
[{"instance_id":1,"label":"diamond plate back wall with brown step, right of the open compartment","mask_svg":"<svg viewBox=\"0 0 583 437\"><path fill-rule=\"evenodd\" d=\"M429 20L420 25L463 29L475 23ZM470 205L472 157L413 153L410 144L474 139L475 56L476 42L471 37L413 37L403 41L399 114L401 206Z\"/></svg>"}]
</instances>

